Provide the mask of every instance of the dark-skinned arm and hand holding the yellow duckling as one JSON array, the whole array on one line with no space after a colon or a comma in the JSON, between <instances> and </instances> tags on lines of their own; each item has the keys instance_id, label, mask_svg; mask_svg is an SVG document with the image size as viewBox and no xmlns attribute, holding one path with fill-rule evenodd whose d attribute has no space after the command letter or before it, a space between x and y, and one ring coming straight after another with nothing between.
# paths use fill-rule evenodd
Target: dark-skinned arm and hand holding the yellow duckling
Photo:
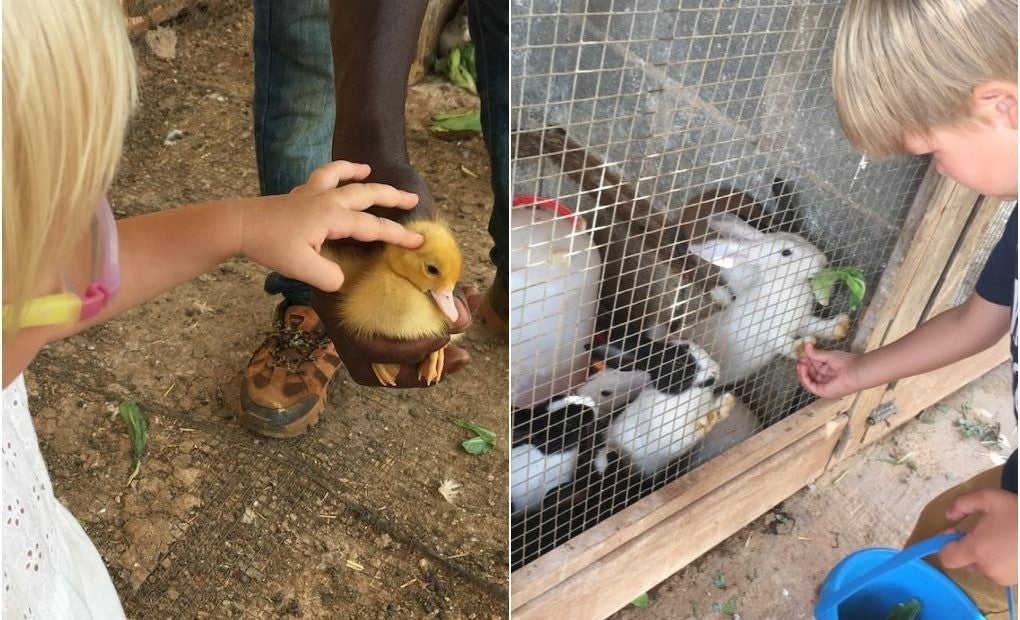
<instances>
[{"instance_id":1,"label":"dark-skinned arm and hand holding the yellow duckling","mask_svg":"<svg viewBox=\"0 0 1020 620\"><path fill-rule=\"evenodd\" d=\"M385 209L368 210L398 221L430 219L436 211L427 186L411 167L404 117L407 77L426 3L426 0L329 2L337 93L333 158L353 157L352 161L371 166L369 180L389 183L417 194L418 204L410 211L394 214ZM333 318L340 295L313 290L312 307L322 318L351 377L363 385L377 386L371 364L399 363L398 387L425 386L418 379L417 364L446 346L449 337L420 341L355 338ZM476 295L472 298L477 300ZM456 299L459 317L451 328L454 333L463 331L471 322L471 309L459 288ZM466 351L448 347L444 377L459 370L468 359Z\"/></svg>"}]
</instances>

